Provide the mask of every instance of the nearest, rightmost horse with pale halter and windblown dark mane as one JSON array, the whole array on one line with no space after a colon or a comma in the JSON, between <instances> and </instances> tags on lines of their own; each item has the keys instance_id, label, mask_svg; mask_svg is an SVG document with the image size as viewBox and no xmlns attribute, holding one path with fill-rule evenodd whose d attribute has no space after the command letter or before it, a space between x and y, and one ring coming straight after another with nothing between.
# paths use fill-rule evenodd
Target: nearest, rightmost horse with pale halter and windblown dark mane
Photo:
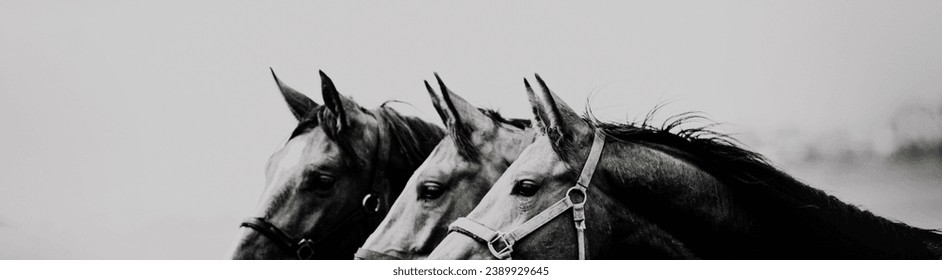
<instances>
[{"instance_id":1,"label":"nearest, rightmost horse with pale halter and windblown dark mane","mask_svg":"<svg viewBox=\"0 0 942 280\"><path fill-rule=\"evenodd\" d=\"M942 257L938 230L848 205L727 135L678 130L696 114L601 122L536 80L542 134L429 259Z\"/></svg>"}]
</instances>

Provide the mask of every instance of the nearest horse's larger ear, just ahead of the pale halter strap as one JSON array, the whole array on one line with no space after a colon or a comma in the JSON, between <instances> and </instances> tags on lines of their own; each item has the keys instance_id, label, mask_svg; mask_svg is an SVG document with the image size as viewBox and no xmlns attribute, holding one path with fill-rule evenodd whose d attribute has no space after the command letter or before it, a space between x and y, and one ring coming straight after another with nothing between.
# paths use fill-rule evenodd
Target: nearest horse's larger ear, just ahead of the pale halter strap
<instances>
[{"instance_id":1,"label":"nearest horse's larger ear, just ahead of the pale halter strap","mask_svg":"<svg viewBox=\"0 0 942 280\"><path fill-rule=\"evenodd\" d=\"M543 88L542 94L540 95L540 104L542 105L543 113L546 115L543 124L545 125L545 132L557 144L562 144L564 142L571 142L565 140L579 139L585 136L588 133L589 127L579 117L579 114L576 111L573 111L566 102L563 102L559 96L552 93L549 87L546 86L546 82L543 82L543 79L540 78L540 75L535 75L536 81L540 83L540 87Z\"/></svg>"}]
</instances>

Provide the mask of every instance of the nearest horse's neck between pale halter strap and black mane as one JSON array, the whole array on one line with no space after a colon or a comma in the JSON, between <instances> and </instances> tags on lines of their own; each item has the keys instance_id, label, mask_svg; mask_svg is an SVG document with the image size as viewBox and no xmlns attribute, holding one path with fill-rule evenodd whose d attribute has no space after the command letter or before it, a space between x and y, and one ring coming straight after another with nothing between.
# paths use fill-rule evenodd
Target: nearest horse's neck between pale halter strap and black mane
<instances>
[{"instance_id":1,"label":"nearest horse's neck between pale halter strap and black mane","mask_svg":"<svg viewBox=\"0 0 942 280\"><path fill-rule=\"evenodd\" d=\"M610 141L590 188L598 187L618 207L669 232L698 257L735 253L729 244L746 228L743 211L732 203L729 191L679 151L653 146Z\"/></svg>"}]
</instances>

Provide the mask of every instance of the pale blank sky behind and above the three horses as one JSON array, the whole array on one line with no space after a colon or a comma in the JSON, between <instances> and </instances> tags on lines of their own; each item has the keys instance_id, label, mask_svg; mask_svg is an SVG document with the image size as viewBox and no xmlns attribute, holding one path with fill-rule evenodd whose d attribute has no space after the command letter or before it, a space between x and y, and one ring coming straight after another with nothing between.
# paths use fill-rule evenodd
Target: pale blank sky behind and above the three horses
<instances>
[{"instance_id":1,"label":"pale blank sky behind and above the three horses","mask_svg":"<svg viewBox=\"0 0 942 280\"><path fill-rule=\"evenodd\" d=\"M663 116L704 111L747 144L880 145L901 106L942 106L934 0L194 2L0 2L0 259L227 257L295 125L268 67L318 102L321 69L366 107L403 100L436 123L432 72L525 118L538 72L604 118L670 101ZM942 204L933 178L900 200ZM842 193L942 227L938 208Z\"/></svg>"}]
</instances>

